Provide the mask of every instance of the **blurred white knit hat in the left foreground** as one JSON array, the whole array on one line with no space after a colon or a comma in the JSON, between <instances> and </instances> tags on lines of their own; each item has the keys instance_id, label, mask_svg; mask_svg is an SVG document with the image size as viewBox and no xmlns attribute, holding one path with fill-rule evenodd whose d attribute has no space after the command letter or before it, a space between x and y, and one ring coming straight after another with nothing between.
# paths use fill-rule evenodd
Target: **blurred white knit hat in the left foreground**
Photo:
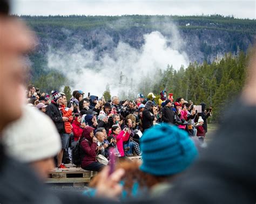
<instances>
[{"instance_id":1,"label":"blurred white knit hat in the left foreground","mask_svg":"<svg viewBox=\"0 0 256 204\"><path fill-rule=\"evenodd\" d=\"M60 136L49 116L30 107L3 132L7 153L19 161L30 163L55 156L61 149Z\"/></svg>"}]
</instances>

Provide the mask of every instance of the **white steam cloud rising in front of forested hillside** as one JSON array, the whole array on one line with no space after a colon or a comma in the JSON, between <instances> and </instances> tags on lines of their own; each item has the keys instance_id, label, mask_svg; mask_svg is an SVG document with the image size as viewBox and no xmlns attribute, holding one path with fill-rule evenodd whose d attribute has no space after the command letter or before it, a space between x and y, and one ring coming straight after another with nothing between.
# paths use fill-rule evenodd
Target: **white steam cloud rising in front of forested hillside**
<instances>
[{"instance_id":1,"label":"white steam cloud rising in front of forested hillside","mask_svg":"<svg viewBox=\"0 0 256 204\"><path fill-rule=\"evenodd\" d=\"M50 48L48 66L63 72L73 81L72 90L83 90L85 93L101 96L109 83L111 95L128 93L130 86L127 82L130 83L131 79L134 87L138 87L140 80L147 73L154 76L156 69L164 70L167 65L179 69L181 65L185 67L188 65L187 54L179 51L181 40L178 38L178 32L175 29L172 29L172 32L175 38L171 39L164 37L158 31L145 34L145 43L139 49L120 41L111 54L103 53L98 60L96 60L97 53L86 50L82 43L77 43L69 52L52 51ZM103 43L106 41L109 43L109 40L110 37L106 36ZM124 78L127 78L127 82L122 86L119 85L121 72Z\"/></svg>"}]
</instances>

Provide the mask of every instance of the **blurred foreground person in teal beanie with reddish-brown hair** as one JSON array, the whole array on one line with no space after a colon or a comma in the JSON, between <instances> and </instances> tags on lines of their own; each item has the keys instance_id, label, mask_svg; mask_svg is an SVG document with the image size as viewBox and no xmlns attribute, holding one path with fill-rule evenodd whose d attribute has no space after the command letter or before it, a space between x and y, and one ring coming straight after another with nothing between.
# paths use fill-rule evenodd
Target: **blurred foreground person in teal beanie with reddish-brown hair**
<instances>
[{"instance_id":1,"label":"blurred foreground person in teal beanie with reddish-brown hair","mask_svg":"<svg viewBox=\"0 0 256 204\"><path fill-rule=\"evenodd\" d=\"M185 172L198 157L197 148L187 133L169 124L154 126L146 131L141 147L142 164L126 161L117 167L126 170L122 179L124 191L120 195L121 200L163 196L173 187L171 181ZM95 187L98 179L93 179L90 186ZM86 192L87 195L95 193L93 189Z\"/></svg>"}]
</instances>

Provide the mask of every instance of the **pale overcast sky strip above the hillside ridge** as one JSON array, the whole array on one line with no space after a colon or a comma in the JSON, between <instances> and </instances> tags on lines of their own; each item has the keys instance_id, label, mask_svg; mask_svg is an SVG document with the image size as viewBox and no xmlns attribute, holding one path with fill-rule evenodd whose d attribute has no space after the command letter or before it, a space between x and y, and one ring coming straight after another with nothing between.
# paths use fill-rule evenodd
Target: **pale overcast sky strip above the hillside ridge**
<instances>
[{"instance_id":1,"label":"pale overcast sky strip above the hillside ridge","mask_svg":"<svg viewBox=\"0 0 256 204\"><path fill-rule=\"evenodd\" d=\"M255 0L12 0L18 15L233 15L256 18Z\"/></svg>"}]
</instances>

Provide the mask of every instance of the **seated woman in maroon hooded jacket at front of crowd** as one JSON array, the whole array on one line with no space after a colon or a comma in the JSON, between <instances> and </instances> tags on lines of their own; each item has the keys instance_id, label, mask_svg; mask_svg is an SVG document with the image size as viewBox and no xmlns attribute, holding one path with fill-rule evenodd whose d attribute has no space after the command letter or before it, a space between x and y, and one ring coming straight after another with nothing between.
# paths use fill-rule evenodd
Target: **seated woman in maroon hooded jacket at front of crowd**
<instances>
[{"instance_id":1,"label":"seated woman in maroon hooded jacket at front of crowd","mask_svg":"<svg viewBox=\"0 0 256 204\"><path fill-rule=\"evenodd\" d=\"M87 171L101 171L105 166L96 160L97 152L100 146L97 147L97 138L93 135L91 126L86 126L80 138L80 149L83 151L84 158L82 158L81 167Z\"/></svg>"}]
</instances>

